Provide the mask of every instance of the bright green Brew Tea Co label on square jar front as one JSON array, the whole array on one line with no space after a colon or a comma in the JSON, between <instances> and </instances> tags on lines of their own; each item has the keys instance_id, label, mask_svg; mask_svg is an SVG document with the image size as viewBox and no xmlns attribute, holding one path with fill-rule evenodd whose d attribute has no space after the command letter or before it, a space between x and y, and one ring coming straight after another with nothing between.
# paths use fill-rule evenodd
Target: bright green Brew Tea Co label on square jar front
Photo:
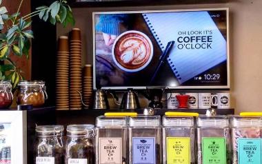
<instances>
[{"instance_id":1,"label":"bright green Brew Tea Co label on square jar front","mask_svg":"<svg viewBox=\"0 0 262 164\"><path fill-rule=\"evenodd\" d=\"M205 164L226 164L225 138L202 138L202 156Z\"/></svg>"}]
</instances>

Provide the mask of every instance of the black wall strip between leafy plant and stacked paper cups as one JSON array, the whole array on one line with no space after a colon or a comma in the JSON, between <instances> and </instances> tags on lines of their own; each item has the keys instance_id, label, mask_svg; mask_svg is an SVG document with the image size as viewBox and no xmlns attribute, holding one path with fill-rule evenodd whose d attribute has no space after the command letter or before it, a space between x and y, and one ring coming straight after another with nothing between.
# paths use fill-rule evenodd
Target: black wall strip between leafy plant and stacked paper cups
<instances>
[{"instance_id":1,"label":"black wall strip between leafy plant and stacked paper cups","mask_svg":"<svg viewBox=\"0 0 262 164\"><path fill-rule=\"evenodd\" d=\"M39 6L50 6L53 0L31 1L32 11ZM55 101L55 65L57 51L56 26L44 22L39 17L32 19L32 80L46 81L48 101L46 105L54 105Z\"/></svg>"}]
</instances>

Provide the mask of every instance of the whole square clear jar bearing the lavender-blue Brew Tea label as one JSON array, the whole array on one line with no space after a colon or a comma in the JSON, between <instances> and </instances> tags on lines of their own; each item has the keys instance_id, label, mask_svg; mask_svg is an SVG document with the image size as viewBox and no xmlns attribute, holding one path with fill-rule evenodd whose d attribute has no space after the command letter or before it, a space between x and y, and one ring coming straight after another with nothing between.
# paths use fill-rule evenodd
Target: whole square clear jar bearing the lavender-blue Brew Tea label
<instances>
[{"instance_id":1,"label":"whole square clear jar bearing the lavender-blue Brew Tea label","mask_svg":"<svg viewBox=\"0 0 262 164\"><path fill-rule=\"evenodd\" d=\"M162 163L160 123L160 116L129 118L130 164Z\"/></svg>"}]
</instances>

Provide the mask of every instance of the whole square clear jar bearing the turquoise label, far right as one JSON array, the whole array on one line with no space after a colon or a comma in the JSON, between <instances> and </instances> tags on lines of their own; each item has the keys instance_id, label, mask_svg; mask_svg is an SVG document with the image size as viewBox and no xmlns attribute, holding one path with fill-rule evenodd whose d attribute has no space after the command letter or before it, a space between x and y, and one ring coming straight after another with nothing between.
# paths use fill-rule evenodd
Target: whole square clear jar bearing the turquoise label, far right
<instances>
[{"instance_id":1,"label":"whole square clear jar bearing the turquoise label, far right","mask_svg":"<svg viewBox=\"0 0 262 164\"><path fill-rule=\"evenodd\" d=\"M254 164L261 161L261 116L233 116L233 164Z\"/></svg>"}]
</instances>

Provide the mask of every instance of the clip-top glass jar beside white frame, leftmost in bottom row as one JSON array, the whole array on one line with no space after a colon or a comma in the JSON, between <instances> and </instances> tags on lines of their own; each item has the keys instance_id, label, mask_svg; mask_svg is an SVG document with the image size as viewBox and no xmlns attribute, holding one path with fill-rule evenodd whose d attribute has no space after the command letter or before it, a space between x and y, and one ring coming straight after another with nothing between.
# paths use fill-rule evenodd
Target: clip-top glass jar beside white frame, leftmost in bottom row
<instances>
[{"instance_id":1,"label":"clip-top glass jar beside white frame, leftmost in bottom row","mask_svg":"<svg viewBox=\"0 0 262 164\"><path fill-rule=\"evenodd\" d=\"M37 141L34 145L34 163L63 163L63 126L41 125L36 127Z\"/></svg>"}]
</instances>

